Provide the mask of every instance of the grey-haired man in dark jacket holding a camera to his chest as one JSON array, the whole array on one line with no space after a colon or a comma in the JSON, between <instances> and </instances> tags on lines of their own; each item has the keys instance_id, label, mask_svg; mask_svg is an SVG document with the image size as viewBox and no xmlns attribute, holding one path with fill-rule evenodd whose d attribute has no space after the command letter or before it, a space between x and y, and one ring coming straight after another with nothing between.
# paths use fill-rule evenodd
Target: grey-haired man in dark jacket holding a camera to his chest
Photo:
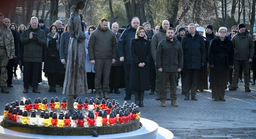
<instances>
[{"instance_id":1,"label":"grey-haired man in dark jacket holding a camera to his chest","mask_svg":"<svg viewBox=\"0 0 256 139\"><path fill-rule=\"evenodd\" d=\"M38 19L32 17L28 29L25 30L20 37L21 44L24 44L23 93L28 92L30 75L32 75L33 80L33 92L40 93L37 89L37 82L40 64L42 63L43 46L46 45L46 41L47 39L44 31L38 26ZM31 72L32 74L30 74Z\"/></svg>"}]
</instances>

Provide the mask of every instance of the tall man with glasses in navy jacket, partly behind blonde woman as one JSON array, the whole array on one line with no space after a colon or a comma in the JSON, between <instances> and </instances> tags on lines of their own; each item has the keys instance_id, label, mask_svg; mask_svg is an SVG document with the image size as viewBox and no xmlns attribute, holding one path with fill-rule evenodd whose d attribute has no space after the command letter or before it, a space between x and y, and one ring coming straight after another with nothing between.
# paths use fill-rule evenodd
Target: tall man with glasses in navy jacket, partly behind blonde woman
<instances>
[{"instance_id":1,"label":"tall man with glasses in navy jacket, partly behind blonde woman","mask_svg":"<svg viewBox=\"0 0 256 139\"><path fill-rule=\"evenodd\" d=\"M135 38L136 30L140 26L140 19L138 17L134 17L131 21L131 24L128 25L127 29L125 29L121 37L119 38L118 43L118 55L120 57L120 61L123 62L124 72L125 72L125 97L124 100L130 100L132 91L129 87L130 82L130 70L131 70L131 62L132 56L130 51L131 39Z\"/></svg>"}]
</instances>

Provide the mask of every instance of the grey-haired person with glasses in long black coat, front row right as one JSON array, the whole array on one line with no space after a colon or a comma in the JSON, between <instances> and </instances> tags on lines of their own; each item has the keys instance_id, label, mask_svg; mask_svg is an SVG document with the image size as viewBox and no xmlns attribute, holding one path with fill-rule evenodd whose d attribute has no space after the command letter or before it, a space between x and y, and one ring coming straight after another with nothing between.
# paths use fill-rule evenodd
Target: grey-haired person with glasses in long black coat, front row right
<instances>
[{"instance_id":1,"label":"grey-haired person with glasses in long black coat, front row right","mask_svg":"<svg viewBox=\"0 0 256 139\"><path fill-rule=\"evenodd\" d=\"M209 82L214 101L226 101L225 88L227 88L229 69L233 67L234 47L231 40L226 37L226 27L220 27L219 33L220 35L214 38L209 46Z\"/></svg>"}]
</instances>

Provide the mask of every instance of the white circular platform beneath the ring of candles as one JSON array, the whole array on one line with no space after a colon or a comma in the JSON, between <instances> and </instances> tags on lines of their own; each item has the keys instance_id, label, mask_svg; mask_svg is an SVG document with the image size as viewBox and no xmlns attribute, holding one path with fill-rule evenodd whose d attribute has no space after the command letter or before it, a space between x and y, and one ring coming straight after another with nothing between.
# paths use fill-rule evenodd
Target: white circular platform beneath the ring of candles
<instances>
[{"instance_id":1,"label":"white circular platform beneath the ring of candles","mask_svg":"<svg viewBox=\"0 0 256 139\"><path fill-rule=\"evenodd\" d=\"M0 122L3 116L0 116ZM118 133L93 136L52 136L52 135L39 135L30 133L21 133L9 130L0 126L0 139L173 139L173 133L169 130L158 126L152 120L140 118L142 127L138 130Z\"/></svg>"}]
</instances>

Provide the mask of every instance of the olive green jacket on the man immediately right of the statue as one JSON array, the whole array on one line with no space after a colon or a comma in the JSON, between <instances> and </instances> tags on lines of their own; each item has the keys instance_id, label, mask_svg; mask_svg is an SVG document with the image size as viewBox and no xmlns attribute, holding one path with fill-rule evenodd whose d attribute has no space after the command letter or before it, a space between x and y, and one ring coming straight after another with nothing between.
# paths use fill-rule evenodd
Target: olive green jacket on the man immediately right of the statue
<instances>
[{"instance_id":1,"label":"olive green jacket on the man immediately right of the statue","mask_svg":"<svg viewBox=\"0 0 256 139\"><path fill-rule=\"evenodd\" d=\"M115 33L109 29L98 28L90 34L88 42L88 53L90 60L95 59L116 59L117 42Z\"/></svg>"}]
</instances>

